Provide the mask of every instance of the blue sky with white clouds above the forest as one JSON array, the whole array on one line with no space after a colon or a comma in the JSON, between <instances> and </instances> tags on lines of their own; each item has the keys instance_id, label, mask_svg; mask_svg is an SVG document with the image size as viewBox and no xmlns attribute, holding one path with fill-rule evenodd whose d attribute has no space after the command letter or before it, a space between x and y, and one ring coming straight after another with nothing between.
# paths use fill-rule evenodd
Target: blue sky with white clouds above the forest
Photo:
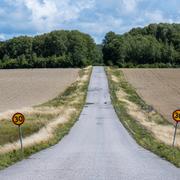
<instances>
[{"instance_id":1,"label":"blue sky with white clouds above the forest","mask_svg":"<svg viewBox=\"0 0 180 180\"><path fill-rule=\"evenodd\" d=\"M180 23L179 0L0 0L0 39L78 29L97 43L109 31Z\"/></svg>"}]
</instances>

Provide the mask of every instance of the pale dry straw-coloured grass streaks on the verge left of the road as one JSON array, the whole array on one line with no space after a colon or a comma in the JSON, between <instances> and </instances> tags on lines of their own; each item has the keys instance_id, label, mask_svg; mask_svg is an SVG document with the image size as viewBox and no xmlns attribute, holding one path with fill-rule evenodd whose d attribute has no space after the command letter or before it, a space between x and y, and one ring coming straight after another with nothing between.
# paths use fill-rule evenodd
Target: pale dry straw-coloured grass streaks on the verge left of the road
<instances>
[{"instance_id":1,"label":"pale dry straw-coloured grass streaks on the verge left of the road","mask_svg":"<svg viewBox=\"0 0 180 180\"><path fill-rule=\"evenodd\" d=\"M0 120L10 119L12 114L16 111L20 111L24 113L26 116L33 116L34 114L39 114L45 116L52 114L53 116L57 116L55 119L51 119L50 121L45 122L45 126L43 126L38 132L31 134L23 139L24 147L30 147L35 144L40 144L41 142L46 142L50 138L53 137L53 133L55 129L60 125L69 121L72 116L76 117L77 113L79 113L78 103L83 101L86 92L82 92L81 87L84 86L85 83L88 82L89 74L91 67L88 67L84 71L83 76L79 76L77 78L77 89L70 95L68 95L67 102L58 106L37 106L30 108L22 108L19 110L11 110L2 113ZM18 150L20 148L19 142L15 141L13 143L6 143L0 146L0 154L12 152L13 150Z\"/></svg>"}]
</instances>

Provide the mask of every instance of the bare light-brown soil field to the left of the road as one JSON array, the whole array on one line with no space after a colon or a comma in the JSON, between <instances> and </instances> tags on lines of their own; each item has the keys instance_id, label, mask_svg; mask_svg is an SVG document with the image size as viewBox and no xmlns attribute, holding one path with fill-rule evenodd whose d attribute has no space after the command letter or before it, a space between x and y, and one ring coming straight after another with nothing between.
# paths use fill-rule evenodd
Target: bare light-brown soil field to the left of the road
<instances>
[{"instance_id":1,"label":"bare light-brown soil field to the left of the road","mask_svg":"<svg viewBox=\"0 0 180 180\"><path fill-rule=\"evenodd\" d=\"M0 113L41 104L63 92L79 69L0 70Z\"/></svg>"}]
</instances>

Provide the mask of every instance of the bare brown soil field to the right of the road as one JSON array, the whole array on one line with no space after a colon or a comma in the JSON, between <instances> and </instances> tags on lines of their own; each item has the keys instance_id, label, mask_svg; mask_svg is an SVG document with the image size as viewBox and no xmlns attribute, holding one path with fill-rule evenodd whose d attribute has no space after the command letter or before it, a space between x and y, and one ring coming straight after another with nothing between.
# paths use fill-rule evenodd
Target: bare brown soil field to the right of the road
<instances>
[{"instance_id":1,"label":"bare brown soil field to the right of the road","mask_svg":"<svg viewBox=\"0 0 180 180\"><path fill-rule=\"evenodd\" d=\"M122 69L125 78L147 104L168 121L180 109L179 69Z\"/></svg>"}]
</instances>

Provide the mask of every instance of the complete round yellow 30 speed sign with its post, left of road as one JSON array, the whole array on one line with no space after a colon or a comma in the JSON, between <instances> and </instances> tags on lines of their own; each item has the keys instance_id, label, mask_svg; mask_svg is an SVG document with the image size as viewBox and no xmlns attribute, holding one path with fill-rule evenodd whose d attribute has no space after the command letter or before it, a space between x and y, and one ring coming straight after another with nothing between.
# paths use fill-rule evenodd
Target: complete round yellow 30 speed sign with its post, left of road
<instances>
[{"instance_id":1,"label":"complete round yellow 30 speed sign with its post, left of road","mask_svg":"<svg viewBox=\"0 0 180 180\"><path fill-rule=\"evenodd\" d=\"M22 129L21 125L24 123L25 117L21 113L15 113L12 117L12 122L18 126L19 129L19 140L20 140L20 145L21 145L21 154L22 157L24 156L24 150L23 150L23 141L22 141Z\"/></svg>"}]
</instances>

